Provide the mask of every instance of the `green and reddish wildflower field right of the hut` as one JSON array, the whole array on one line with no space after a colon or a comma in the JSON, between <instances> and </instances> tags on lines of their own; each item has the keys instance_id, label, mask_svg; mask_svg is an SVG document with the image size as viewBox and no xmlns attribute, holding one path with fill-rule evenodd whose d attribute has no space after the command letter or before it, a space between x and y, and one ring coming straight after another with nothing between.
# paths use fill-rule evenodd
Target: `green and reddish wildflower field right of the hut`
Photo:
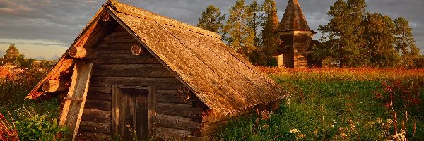
<instances>
[{"instance_id":1,"label":"green and reddish wildflower field right of the hut","mask_svg":"<svg viewBox=\"0 0 424 141\"><path fill-rule=\"evenodd\" d=\"M424 70L259 67L290 94L219 140L424 140Z\"/></svg>"}]
</instances>

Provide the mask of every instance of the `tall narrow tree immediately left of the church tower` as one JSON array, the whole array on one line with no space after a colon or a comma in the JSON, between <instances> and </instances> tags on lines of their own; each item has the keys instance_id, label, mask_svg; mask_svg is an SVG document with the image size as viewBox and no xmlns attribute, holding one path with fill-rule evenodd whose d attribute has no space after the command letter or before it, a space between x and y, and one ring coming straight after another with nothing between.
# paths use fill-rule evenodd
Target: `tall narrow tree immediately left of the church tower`
<instances>
[{"instance_id":1,"label":"tall narrow tree immediately left of the church tower","mask_svg":"<svg viewBox=\"0 0 424 141\"><path fill-rule=\"evenodd\" d=\"M265 0L261 11L264 13L262 18L262 52L266 59L273 56L281 45L281 39L278 35L278 15L276 1Z\"/></svg>"}]
</instances>

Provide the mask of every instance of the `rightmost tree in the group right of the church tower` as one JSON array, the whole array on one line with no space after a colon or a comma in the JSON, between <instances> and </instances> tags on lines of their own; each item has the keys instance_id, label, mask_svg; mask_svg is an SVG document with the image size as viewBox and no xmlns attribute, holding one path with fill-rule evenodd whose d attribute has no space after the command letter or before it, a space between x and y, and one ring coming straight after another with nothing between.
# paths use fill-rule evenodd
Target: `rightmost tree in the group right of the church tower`
<instances>
[{"instance_id":1,"label":"rightmost tree in the group right of the church tower","mask_svg":"<svg viewBox=\"0 0 424 141\"><path fill-rule=\"evenodd\" d=\"M420 49L416 47L413 38L412 28L406 18L399 17L394 20L396 51L401 52L403 66L405 68L415 68L413 61L420 56Z\"/></svg>"}]
</instances>

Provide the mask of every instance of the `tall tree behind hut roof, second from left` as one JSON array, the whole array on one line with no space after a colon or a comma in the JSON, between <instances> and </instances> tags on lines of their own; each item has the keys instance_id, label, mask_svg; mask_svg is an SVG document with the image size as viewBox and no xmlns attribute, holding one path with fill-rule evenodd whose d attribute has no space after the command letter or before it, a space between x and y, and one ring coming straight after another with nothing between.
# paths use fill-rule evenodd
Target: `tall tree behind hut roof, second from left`
<instances>
[{"instance_id":1,"label":"tall tree behind hut roof, second from left","mask_svg":"<svg viewBox=\"0 0 424 141\"><path fill-rule=\"evenodd\" d=\"M254 42L256 33L249 26L249 8L245 6L244 0L237 0L229 10L230 16L224 26L224 33L228 35L225 41L240 54L247 56L257 48Z\"/></svg>"}]
</instances>

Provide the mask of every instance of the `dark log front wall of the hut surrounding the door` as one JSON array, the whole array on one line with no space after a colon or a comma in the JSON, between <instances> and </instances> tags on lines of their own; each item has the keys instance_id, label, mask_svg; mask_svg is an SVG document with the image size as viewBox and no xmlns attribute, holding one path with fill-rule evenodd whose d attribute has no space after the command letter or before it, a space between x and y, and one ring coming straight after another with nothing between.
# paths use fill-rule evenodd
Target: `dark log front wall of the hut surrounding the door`
<instances>
[{"instance_id":1,"label":"dark log front wall of the hut surrounding the door","mask_svg":"<svg viewBox=\"0 0 424 141\"><path fill-rule=\"evenodd\" d=\"M184 94L184 85L148 51L134 55L131 47L138 44L123 27L117 27L96 48L93 73L88 88L86 106L78 131L83 138L112 135L112 85L155 86L155 137L179 140L201 128L200 100L194 94Z\"/></svg>"}]
</instances>

